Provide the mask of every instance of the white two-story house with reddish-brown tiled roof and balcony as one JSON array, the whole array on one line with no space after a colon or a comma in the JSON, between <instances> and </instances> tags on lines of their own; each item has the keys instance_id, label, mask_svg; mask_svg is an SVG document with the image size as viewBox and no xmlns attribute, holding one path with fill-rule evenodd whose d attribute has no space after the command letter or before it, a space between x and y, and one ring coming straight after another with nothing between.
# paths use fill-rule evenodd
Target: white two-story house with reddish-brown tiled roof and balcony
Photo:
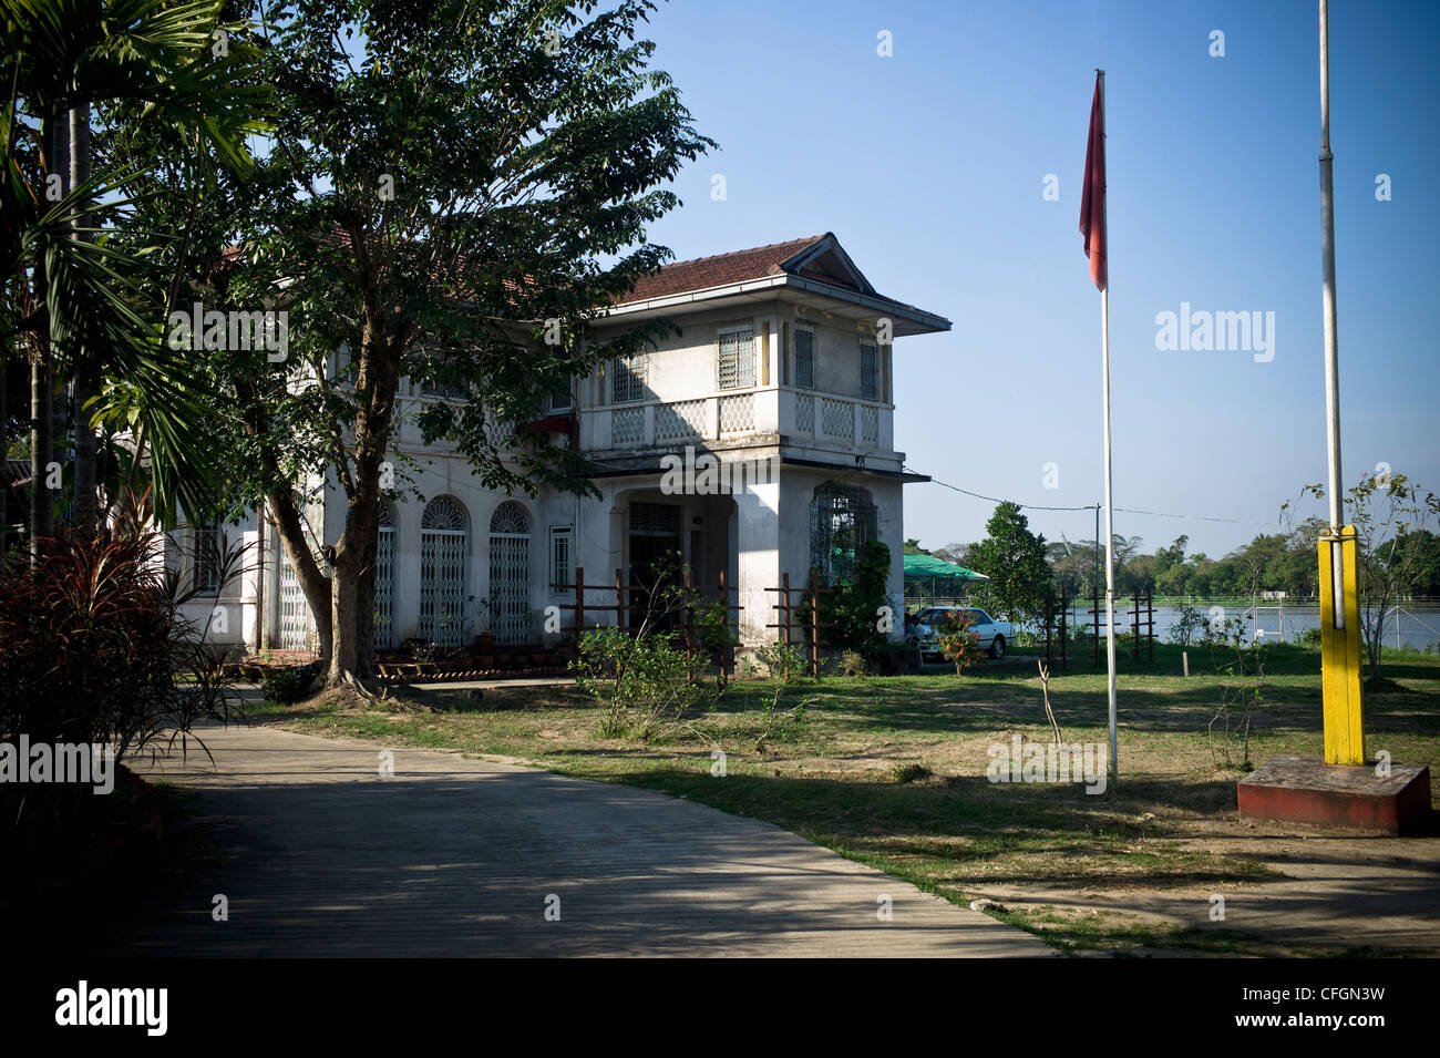
<instances>
[{"instance_id":1,"label":"white two-story house with reddish-brown tiled roof and balcony","mask_svg":"<svg viewBox=\"0 0 1440 1058\"><path fill-rule=\"evenodd\" d=\"M829 233L668 265L609 309L615 327L648 317L674 321L678 337L550 399L550 425L577 445L599 498L487 489L468 461L423 445L406 422L420 402L444 397L402 384L396 455L412 458L425 499L382 514L377 648L410 638L461 645L482 630L536 643L547 607L573 602L577 569L586 583L612 586L619 570L628 584L674 551L701 587L724 576L747 645L776 638L766 625L778 596L766 589L786 574L799 589L811 570L845 576L870 540L890 548L899 605L901 489L923 478L894 451L894 343L946 331L949 320L877 294ZM334 497L311 508L317 544L340 534L344 501ZM215 600L233 616L213 639L312 646L274 531L252 523L184 533L176 559L194 576L210 576L216 534L243 535L264 556ZM588 593L596 609L586 625L615 620L598 609L605 602L613 606L613 589L608 600ZM560 620L570 628L573 610Z\"/></svg>"}]
</instances>

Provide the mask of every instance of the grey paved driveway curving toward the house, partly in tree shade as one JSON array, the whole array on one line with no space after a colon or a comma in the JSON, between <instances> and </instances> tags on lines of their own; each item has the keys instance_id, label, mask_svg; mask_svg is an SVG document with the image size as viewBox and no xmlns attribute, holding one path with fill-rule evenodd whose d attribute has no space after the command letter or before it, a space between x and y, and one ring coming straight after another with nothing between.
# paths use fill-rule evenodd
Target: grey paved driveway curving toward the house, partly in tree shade
<instances>
[{"instance_id":1,"label":"grey paved driveway curving toward the house, partly in tree shade","mask_svg":"<svg viewBox=\"0 0 1440 1058\"><path fill-rule=\"evenodd\" d=\"M380 777L370 743L203 736L213 769L192 750L148 770L200 792L219 862L104 937L111 954L1047 954L776 826L661 793L403 749Z\"/></svg>"}]
</instances>

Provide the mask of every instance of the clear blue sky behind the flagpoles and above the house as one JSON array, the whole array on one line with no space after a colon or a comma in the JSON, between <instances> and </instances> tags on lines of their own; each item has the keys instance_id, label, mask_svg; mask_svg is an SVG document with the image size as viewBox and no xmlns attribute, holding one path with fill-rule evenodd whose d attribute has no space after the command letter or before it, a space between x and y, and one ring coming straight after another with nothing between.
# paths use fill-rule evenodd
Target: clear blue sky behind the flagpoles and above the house
<instances>
[{"instance_id":1,"label":"clear blue sky behind the flagpoles and above the house","mask_svg":"<svg viewBox=\"0 0 1440 1058\"><path fill-rule=\"evenodd\" d=\"M1115 502L1238 520L1122 512L1115 528L1218 557L1325 478L1316 23L1313 0L664 4L655 62L720 150L683 173L685 206L652 235L693 258L835 232L883 294L953 321L896 345L909 465L1093 504L1100 307L1077 223L1103 66ZM1437 37L1440 4L1331 3L1346 481L1385 462L1440 489ZM1051 173L1058 202L1043 199ZM1158 351L1155 317L1182 301L1274 312L1274 358ZM909 485L904 531L978 540L992 507ZM1094 533L1093 512L1028 515L1051 540Z\"/></svg>"}]
</instances>

